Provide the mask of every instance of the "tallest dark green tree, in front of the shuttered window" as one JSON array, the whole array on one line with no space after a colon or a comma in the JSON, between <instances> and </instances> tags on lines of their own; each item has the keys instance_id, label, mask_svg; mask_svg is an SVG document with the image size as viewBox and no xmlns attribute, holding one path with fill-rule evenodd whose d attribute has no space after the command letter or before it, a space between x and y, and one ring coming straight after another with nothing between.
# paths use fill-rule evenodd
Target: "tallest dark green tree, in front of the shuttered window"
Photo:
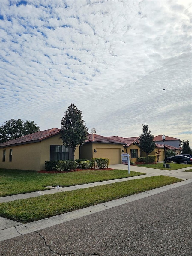
<instances>
[{"instance_id":1,"label":"tallest dark green tree, in front of the shuttered window","mask_svg":"<svg viewBox=\"0 0 192 256\"><path fill-rule=\"evenodd\" d=\"M70 104L67 111L61 119L61 138L64 145L70 146L73 152L73 161L75 149L78 145L84 144L88 128L82 119L82 111L78 110L74 104Z\"/></svg>"}]
</instances>

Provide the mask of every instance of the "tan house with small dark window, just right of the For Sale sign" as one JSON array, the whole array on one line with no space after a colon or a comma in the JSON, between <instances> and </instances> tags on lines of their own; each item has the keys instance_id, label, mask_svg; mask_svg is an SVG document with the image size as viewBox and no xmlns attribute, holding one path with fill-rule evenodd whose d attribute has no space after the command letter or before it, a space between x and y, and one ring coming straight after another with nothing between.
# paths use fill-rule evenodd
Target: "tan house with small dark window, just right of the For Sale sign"
<instances>
[{"instance_id":1,"label":"tan house with small dark window, just right of the For Sale sign","mask_svg":"<svg viewBox=\"0 0 192 256\"><path fill-rule=\"evenodd\" d=\"M119 136L111 136L108 138L125 143L124 153L130 155L131 161L137 162L137 158L140 157L139 137L123 138Z\"/></svg>"}]
</instances>

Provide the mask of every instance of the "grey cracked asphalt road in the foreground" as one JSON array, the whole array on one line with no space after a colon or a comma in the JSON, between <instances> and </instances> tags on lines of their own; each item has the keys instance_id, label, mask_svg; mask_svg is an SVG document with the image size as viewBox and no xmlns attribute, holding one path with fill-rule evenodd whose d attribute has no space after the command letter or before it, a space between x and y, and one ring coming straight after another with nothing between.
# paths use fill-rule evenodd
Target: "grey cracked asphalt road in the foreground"
<instances>
[{"instance_id":1,"label":"grey cracked asphalt road in the foreground","mask_svg":"<svg viewBox=\"0 0 192 256\"><path fill-rule=\"evenodd\" d=\"M191 183L0 242L3 256L191 256Z\"/></svg>"}]
</instances>

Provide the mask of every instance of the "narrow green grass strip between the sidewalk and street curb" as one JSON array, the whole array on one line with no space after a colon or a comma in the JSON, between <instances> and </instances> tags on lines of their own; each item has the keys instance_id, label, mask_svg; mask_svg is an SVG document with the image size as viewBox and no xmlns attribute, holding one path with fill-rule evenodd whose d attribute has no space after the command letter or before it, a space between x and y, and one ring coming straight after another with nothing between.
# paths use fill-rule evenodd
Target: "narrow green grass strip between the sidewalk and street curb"
<instances>
[{"instance_id":1,"label":"narrow green grass strip between the sidewalk and street curb","mask_svg":"<svg viewBox=\"0 0 192 256\"><path fill-rule=\"evenodd\" d=\"M153 176L0 204L0 216L29 223L182 181Z\"/></svg>"}]
</instances>

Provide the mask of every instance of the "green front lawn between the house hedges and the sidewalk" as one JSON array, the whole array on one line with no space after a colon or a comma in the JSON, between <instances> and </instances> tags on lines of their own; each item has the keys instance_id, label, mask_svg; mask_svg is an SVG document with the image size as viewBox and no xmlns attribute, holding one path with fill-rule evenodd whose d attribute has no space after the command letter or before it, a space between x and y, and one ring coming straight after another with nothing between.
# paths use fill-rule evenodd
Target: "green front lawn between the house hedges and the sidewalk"
<instances>
[{"instance_id":1,"label":"green front lawn between the house hedges and the sidewalk","mask_svg":"<svg viewBox=\"0 0 192 256\"><path fill-rule=\"evenodd\" d=\"M38 173L37 171L0 169L0 197L46 190L46 186L68 187L146 173L127 170L82 170L69 173Z\"/></svg>"}]
</instances>

